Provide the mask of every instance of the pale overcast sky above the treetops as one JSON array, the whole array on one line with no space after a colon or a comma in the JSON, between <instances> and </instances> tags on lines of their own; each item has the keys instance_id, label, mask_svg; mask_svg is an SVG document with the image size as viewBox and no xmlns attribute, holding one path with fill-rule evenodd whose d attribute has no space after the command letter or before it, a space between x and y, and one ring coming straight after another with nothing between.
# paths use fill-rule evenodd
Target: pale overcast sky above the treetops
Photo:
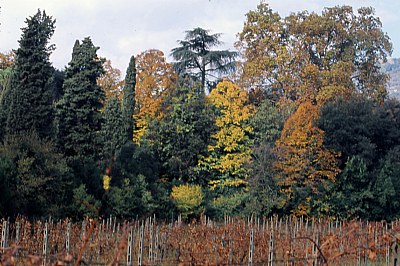
<instances>
[{"instance_id":1,"label":"pale overcast sky above the treetops","mask_svg":"<svg viewBox=\"0 0 400 266\"><path fill-rule=\"evenodd\" d=\"M234 49L236 35L243 28L245 14L255 10L260 0L0 0L0 52L18 48L21 27L38 9L56 19L51 43L54 66L62 69L71 59L76 39L90 36L100 47L98 54L125 73L131 55L148 49L162 50L166 56L195 27L223 33L221 49ZM269 0L281 16L302 10L320 13L324 7L372 6L400 57L399 0Z\"/></svg>"}]
</instances>

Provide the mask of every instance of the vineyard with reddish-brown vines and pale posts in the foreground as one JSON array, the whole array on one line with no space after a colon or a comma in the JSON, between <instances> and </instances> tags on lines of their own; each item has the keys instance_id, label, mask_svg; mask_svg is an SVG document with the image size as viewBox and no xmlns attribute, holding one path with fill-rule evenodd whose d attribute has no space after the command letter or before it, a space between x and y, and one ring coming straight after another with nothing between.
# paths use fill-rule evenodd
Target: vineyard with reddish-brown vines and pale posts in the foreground
<instances>
[{"instance_id":1,"label":"vineyard with reddish-brown vines and pale posts in the foreground","mask_svg":"<svg viewBox=\"0 0 400 266\"><path fill-rule=\"evenodd\" d=\"M396 265L400 222L1 223L1 265Z\"/></svg>"}]
</instances>

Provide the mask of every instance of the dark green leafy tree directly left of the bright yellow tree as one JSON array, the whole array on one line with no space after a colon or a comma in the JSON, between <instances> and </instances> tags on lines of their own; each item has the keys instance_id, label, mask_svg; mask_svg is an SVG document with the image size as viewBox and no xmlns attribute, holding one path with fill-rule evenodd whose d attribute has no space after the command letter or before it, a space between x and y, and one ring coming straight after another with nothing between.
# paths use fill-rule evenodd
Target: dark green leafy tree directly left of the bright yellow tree
<instances>
[{"instance_id":1,"label":"dark green leafy tree directly left of the bright yellow tree","mask_svg":"<svg viewBox=\"0 0 400 266\"><path fill-rule=\"evenodd\" d=\"M169 181L207 183L207 176L195 171L200 156L208 152L213 129L213 116L204 93L193 84L180 82L169 94L163 112L164 117L150 124L145 135L153 142L161 174Z\"/></svg>"}]
</instances>

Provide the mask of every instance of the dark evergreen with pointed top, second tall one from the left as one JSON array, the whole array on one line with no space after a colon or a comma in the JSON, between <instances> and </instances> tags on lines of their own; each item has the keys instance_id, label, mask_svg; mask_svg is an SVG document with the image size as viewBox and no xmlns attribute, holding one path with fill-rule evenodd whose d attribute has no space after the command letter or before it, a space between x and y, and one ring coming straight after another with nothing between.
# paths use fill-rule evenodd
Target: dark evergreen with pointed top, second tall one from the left
<instances>
[{"instance_id":1,"label":"dark evergreen with pointed top, second tall one from the left","mask_svg":"<svg viewBox=\"0 0 400 266\"><path fill-rule=\"evenodd\" d=\"M92 159L100 154L99 132L104 92L97 85L103 60L91 39L75 42L65 71L64 95L56 105L57 140L67 158Z\"/></svg>"}]
</instances>

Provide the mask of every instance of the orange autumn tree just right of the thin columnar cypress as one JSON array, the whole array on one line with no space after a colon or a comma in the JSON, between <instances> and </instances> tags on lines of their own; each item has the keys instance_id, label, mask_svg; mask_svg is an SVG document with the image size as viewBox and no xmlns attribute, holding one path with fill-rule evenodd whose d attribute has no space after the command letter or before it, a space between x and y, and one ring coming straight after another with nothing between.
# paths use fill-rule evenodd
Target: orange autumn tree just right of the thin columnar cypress
<instances>
[{"instance_id":1,"label":"orange autumn tree just right of the thin columnar cypress","mask_svg":"<svg viewBox=\"0 0 400 266\"><path fill-rule=\"evenodd\" d=\"M136 57L136 129L134 141L140 142L150 120L162 117L162 102L175 85L177 75L160 50L147 50Z\"/></svg>"}]
</instances>

